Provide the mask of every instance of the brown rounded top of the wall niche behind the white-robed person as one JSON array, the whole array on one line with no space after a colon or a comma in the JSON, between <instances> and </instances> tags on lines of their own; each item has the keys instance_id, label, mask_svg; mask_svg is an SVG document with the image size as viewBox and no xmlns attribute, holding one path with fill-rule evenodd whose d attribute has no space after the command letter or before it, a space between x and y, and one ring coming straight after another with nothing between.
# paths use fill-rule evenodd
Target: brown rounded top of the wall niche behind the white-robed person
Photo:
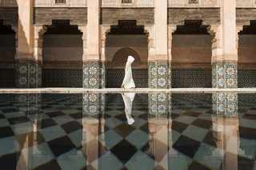
<instances>
[{"instance_id":1,"label":"brown rounded top of the wall niche behind the white-robed person","mask_svg":"<svg viewBox=\"0 0 256 170\"><path fill-rule=\"evenodd\" d=\"M109 68L124 68L128 56L134 57L134 67L138 67L141 64L139 54L134 49L126 47L118 49L118 51L114 53L113 59L110 61L110 63L108 63Z\"/></svg>"}]
</instances>

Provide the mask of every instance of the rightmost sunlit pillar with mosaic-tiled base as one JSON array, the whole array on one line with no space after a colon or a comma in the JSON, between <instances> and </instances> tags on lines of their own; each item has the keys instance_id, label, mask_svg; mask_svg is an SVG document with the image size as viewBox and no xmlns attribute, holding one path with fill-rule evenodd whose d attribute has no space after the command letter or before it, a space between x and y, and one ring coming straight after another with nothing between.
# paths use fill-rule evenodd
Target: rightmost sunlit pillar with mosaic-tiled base
<instances>
[{"instance_id":1,"label":"rightmost sunlit pillar with mosaic-tiled base","mask_svg":"<svg viewBox=\"0 0 256 170\"><path fill-rule=\"evenodd\" d=\"M222 1L221 25L212 26L214 42L212 49L213 88L238 87L238 49L236 30L236 1Z\"/></svg>"}]
</instances>

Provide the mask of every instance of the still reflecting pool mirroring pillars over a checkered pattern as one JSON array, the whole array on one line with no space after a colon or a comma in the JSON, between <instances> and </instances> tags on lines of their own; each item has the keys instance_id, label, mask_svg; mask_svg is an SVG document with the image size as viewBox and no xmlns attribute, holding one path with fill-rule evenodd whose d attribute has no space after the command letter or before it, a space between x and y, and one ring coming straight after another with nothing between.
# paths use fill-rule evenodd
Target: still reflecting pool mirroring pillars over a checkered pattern
<instances>
[{"instance_id":1,"label":"still reflecting pool mirroring pillars over a checkered pattern","mask_svg":"<svg viewBox=\"0 0 256 170\"><path fill-rule=\"evenodd\" d=\"M255 170L255 156L254 94L0 94L6 170Z\"/></svg>"}]
</instances>

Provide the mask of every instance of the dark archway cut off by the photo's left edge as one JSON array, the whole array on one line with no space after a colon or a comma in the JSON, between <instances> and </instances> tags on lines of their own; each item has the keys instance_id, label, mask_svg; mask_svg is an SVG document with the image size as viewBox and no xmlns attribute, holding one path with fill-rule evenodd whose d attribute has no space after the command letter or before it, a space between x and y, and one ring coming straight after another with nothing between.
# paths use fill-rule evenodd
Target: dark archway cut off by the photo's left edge
<instances>
[{"instance_id":1,"label":"dark archway cut off by the photo's left edge","mask_svg":"<svg viewBox=\"0 0 256 170\"><path fill-rule=\"evenodd\" d=\"M15 87L16 34L0 21L0 88Z\"/></svg>"}]
</instances>

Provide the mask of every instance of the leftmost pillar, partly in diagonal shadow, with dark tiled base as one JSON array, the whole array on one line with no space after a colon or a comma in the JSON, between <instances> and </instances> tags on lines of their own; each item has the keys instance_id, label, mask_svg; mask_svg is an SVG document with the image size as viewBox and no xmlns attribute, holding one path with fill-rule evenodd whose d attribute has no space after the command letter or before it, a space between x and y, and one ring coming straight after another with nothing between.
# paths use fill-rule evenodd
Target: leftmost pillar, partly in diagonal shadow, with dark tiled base
<instances>
[{"instance_id":1,"label":"leftmost pillar, partly in diagonal shadow, with dark tiled base","mask_svg":"<svg viewBox=\"0 0 256 170\"><path fill-rule=\"evenodd\" d=\"M15 67L16 84L19 88L37 88L41 79L40 66L34 57L33 2L18 0L18 48Z\"/></svg>"}]
</instances>

